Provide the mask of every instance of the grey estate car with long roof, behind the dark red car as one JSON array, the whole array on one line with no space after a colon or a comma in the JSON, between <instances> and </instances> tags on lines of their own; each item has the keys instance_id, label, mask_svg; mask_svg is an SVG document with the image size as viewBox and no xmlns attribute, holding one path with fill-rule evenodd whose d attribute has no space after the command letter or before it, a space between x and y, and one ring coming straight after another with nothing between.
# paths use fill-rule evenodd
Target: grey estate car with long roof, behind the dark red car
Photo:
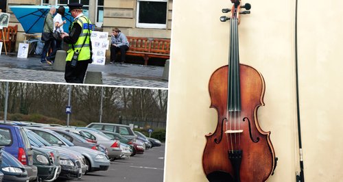
<instances>
[{"instance_id":1,"label":"grey estate car with long roof, behind the dark red car","mask_svg":"<svg viewBox=\"0 0 343 182\"><path fill-rule=\"evenodd\" d=\"M128 125L120 125L115 123L104 123L104 122L92 122L86 126L87 128L93 128L97 130L106 130L119 133L125 138L135 140L137 135L134 134L133 130Z\"/></svg>"}]
</instances>

